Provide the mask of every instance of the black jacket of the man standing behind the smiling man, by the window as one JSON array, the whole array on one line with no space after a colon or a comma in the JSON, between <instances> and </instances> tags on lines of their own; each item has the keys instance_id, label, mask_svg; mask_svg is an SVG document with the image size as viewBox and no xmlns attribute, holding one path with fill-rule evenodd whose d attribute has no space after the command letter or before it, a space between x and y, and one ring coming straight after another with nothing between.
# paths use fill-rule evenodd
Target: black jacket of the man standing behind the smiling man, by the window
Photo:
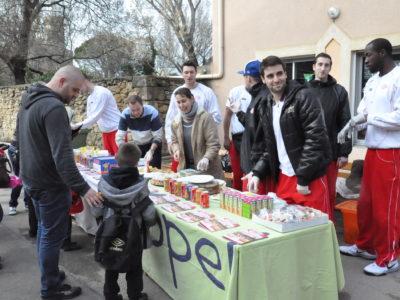
<instances>
[{"instance_id":1,"label":"black jacket of the man standing behind the smiling man, by the window","mask_svg":"<svg viewBox=\"0 0 400 300\"><path fill-rule=\"evenodd\" d=\"M352 149L351 140L338 144L339 131L350 120L349 96L344 87L336 79L328 75L328 81L322 82L313 78L308 84L311 91L319 99L324 110L325 124L332 150L332 159L347 157Z\"/></svg>"}]
</instances>

